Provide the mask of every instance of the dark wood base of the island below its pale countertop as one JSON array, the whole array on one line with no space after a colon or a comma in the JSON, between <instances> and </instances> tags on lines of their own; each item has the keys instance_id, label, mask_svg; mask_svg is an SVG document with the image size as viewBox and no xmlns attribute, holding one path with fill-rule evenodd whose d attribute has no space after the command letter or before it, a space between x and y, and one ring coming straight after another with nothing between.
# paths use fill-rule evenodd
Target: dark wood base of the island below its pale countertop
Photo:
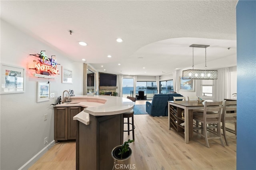
<instances>
[{"instance_id":1,"label":"dark wood base of the island below its pale countertop","mask_svg":"<svg viewBox=\"0 0 256 170\"><path fill-rule=\"evenodd\" d=\"M111 170L112 149L123 143L122 114L90 115L90 124L77 121L76 170Z\"/></svg>"}]
</instances>

